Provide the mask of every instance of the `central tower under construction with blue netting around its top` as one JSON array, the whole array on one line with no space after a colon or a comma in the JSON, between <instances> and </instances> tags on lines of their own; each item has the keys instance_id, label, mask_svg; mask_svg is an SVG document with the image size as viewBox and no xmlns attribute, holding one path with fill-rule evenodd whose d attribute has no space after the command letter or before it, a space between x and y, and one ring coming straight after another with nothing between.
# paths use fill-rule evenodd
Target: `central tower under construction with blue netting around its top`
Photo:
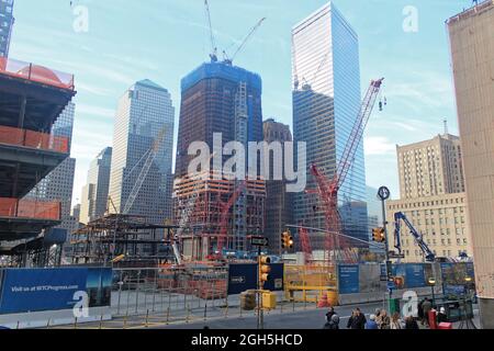
<instances>
[{"instance_id":1,"label":"central tower under construction with blue netting around its top","mask_svg":"<svg viewBox=\"0 0 494 351\"><path fill-rule=\"evenodd\" d=\"M245 250L247 234L262 234L263 230L263 181L249 181L245 189L242 180L210 179L198 184L187 174L193 158L188 156L188 148L192 141L204 141L213 152L215 133L221 133L223 145L231 140L243 145L261 141L261 78L227 61L207 63L182 79L181 91L175 214L177 223L182 220L194 228L189 230L187 238L181 238L184 253L201 258L215 254L222 227L227 228L226 246ZM223 161L227 158L225 156ZM182 219L187 204L197 195L195 211L190 218ZM225 211L224 204L233 195L237 199Z\"/></svg>"}]
</instances>

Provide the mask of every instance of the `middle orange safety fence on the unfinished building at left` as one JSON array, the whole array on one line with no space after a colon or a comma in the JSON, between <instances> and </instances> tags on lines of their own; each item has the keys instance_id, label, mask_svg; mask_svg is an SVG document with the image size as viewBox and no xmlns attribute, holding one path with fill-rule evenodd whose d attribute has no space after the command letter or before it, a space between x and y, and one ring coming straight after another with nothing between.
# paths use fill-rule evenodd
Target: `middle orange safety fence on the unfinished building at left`
<instances>
[{"instance_id":1,"label":"middle orange safety fence on the unfinished building at left","mask_svg":"<svg viewBox=\"0 0 494 351\"><path fill-rule=\"evenodd\" d=\"M69 138L47 133L0 126L0 144L68 154Z\"/></svg>"}]
</instances>

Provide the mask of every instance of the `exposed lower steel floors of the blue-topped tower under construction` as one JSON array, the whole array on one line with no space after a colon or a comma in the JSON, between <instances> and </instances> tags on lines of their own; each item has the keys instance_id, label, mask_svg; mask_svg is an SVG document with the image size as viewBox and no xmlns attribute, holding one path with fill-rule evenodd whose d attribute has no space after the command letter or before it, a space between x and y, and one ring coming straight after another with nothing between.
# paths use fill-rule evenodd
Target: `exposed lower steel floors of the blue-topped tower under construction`
<instances>
[{"instance_id":1,"label":"exposed lower steel floors of the blue-topped tower under construction","mask_svg":"<svg viewBox=\"0 0 494 351\"><path fill-rule=\"evenodd\" d=\"M186 224L179 239L188 261L216 258L223 250L248 251L248 235L265 228L265 181L184 177L176 182L175 196L177 220Z\"/></svg>"}]
</instances>

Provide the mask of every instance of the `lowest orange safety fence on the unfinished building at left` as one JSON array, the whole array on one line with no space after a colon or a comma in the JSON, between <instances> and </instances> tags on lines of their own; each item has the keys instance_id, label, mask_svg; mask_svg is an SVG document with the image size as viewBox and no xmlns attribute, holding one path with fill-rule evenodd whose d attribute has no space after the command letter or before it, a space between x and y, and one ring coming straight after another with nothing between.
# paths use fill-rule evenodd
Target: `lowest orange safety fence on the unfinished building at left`
<instances>
[{"instance_id":1,"label":"lowest orange safety fence on the unfinished building at left","mask_svg":"<svg viewBox=\"0 0 494 351\"><path fill-rule=\"evenodd\" d=\"M0 217L60 220L60 203L0 197Z\"/></svg>"}]
</instances>

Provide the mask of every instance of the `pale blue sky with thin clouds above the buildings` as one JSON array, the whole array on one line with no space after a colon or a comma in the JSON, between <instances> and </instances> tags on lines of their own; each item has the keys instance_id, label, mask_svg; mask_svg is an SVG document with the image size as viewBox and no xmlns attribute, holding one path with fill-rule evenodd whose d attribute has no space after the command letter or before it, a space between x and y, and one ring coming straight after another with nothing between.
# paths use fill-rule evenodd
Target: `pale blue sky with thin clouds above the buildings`
<instances>
[{"instance_id":1,"label":"pale blue sky with thin clouds above the buildings","mask_svg":"<svg viewBox=\"0 0 494 351\"><path fill-rule=\"evenodd\" d=\"M116 104L133 82L147 78L170 91L177 134L180 79L209 60L211 52L203 2L15 0L10 57L75 75L74 204L80 202L89 162L112 145ZM232 54L267 18L235 64L262 77L265 120L292 125L291 29L327 0L209 2L220 52ZM385 77L388 105L383 112L374 110L364 137L367 183L388 185L397 199L396 145L441 134L445 118L449 132L458 134L445 21L472 1L334 3L359 35L362 92L371 79ZM83 25L75 9L87 11Z\"/></svg>"}]
</instances>

